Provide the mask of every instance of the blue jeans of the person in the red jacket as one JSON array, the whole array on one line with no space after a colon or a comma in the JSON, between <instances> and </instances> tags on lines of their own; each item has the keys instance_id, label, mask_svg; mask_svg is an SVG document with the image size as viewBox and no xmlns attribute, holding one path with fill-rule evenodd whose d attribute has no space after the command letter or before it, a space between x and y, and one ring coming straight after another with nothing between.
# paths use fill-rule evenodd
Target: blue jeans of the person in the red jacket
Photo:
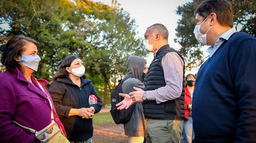
<instances>
[{"instance_id":1,"label":"blue jeans of the person in the red jacket","mask_svg":"<svg viewBox=\"0 0 256 143\"><path fill-rule=\"evenodd\" d=\"M192 143L192 140L195 137L193 130L193 120L192 117L188 117L187 121L184 121L183 130L182 130L183 142Z\"/></svg>"}]
</instances>

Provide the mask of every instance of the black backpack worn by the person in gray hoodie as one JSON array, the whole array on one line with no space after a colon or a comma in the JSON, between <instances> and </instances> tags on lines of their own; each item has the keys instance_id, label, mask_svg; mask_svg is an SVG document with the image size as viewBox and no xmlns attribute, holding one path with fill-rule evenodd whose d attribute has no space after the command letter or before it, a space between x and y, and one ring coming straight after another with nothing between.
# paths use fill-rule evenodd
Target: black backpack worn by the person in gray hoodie
<instances>
[{"instance_id":1,"label":"black backpack worn by the person in gray hoodie","mask_svg":"<svg viewBox=\"0 0 256 143\"><path fill-rule=\"evenodd\" d=\"M135 104L131 105L128 109L123 109L123 110L117 110L118 107L116 106L116 104L124 100L124 97L119 96L119 93L123 93L122 84L128 78L133 78L133 77L125 77L124 79L119 79L118 85L111 92L110 113L116 124L125 124L126 122L128 122L134 110Z\"/></svg>"}]
</instances>

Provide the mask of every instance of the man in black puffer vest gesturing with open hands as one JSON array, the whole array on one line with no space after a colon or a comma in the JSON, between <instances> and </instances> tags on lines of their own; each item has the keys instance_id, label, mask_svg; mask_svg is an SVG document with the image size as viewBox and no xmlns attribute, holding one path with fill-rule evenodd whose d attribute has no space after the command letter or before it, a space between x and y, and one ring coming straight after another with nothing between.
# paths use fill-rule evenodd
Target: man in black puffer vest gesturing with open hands
<instances>
[{"instance_id":1,"label":"man in black puffer vest gesturing with open hands","mask_svg":"<svg viewBox=\"0 0 256 143\"><path fill-rule=\"evenodd\" d=\"M119 94L125 100L118 109L143 102L147 118L147 143L178 143L184 119L185 62L178 51L168 45L168 30L162 24L147 28L143 44L154 53L144 81L145 91Z\"/></svg>"}]
</instances>

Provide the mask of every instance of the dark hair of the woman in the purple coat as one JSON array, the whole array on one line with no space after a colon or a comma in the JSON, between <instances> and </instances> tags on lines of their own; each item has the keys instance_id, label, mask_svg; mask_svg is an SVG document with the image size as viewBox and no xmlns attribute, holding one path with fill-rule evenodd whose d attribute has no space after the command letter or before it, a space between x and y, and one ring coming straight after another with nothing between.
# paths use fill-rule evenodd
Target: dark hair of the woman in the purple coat
<instances>
[{"instance_id":1,"label":"dark hair of the woman in the purple coat","mask_svg":"<svg viewBox=\"0 0 256 143\"><path fill-rule=\"evenodd\" d=\"M37 50L39 50L39 43L24 35L16 35L12 37L6 44L1 45L1 63L6 67L6 70L12 71L15 67L20 69L20 64L14 58L15 56L21 56L26 50L26 45L28 42L32 42L36 45Z\"/></svg>"}]
</instances>

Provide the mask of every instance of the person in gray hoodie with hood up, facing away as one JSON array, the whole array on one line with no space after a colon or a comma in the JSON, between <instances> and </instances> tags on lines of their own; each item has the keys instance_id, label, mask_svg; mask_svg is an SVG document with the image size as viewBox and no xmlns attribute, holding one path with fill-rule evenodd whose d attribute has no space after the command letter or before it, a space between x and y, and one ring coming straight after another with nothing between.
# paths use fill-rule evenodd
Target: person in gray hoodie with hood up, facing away
<instances>
[{"instance_id":1,"label":"person in gray hoodie with hood up, facing away","mask_svg":"<svg viewBox=\"0 0 256 143\"><path fill-rule=\"evenodd\" d=\"M122 84L124 94L134 92L133 87L144 89L143 80L147 73L146 59L139 56L130 56L126 62L126 79ZM125 78L124 77L124 78ZM132 116L124 124L125 135L129 136L129 143L143 143L146 132L146 120L143 114L142 103L136 103Z\"/></svg>"}]
</instances>

